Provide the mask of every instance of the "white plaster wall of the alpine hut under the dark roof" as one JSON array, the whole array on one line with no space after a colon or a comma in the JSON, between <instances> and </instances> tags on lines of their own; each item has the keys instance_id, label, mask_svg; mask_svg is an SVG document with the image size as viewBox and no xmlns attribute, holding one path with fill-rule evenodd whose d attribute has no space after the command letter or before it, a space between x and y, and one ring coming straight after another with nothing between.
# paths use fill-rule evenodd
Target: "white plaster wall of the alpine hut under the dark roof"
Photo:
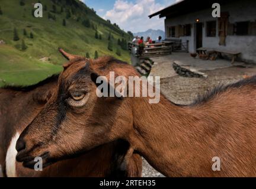
<instances>
[{"instance_id":1,"label":"white plaster wall of the alpine hut under the dark roof","mask_svg":"<svg viewBox=\"0 0 256 189\"><path fill-rule=\"evenodd\" d=\"M235 1L232 4L221 5L221 11L229 12L229 22L235 23L240 21L256 21L256 1L255 0L243 0ZM256 63L256 35L228 35L226 37L226 45L219 45L218 35L218 23L216 22L216 37L206 37L206 22L213 21L217 18L212 17L212 8L204 9L199 12L193 12L187 15L181 15L176 18L167 18L165 19L165 35L168 35L168 27L175 25L185 25L193 24L191 28L190 37L180 37L183 42L189 40L189 51L194 53L196 51L196 42L195 42L195 23L196 19L200 19L200 22L203 22L203 47L209 48L219 48L223 50L230 51L240 51L241 58L245 61Z\"/></svg>"}]
</instances>

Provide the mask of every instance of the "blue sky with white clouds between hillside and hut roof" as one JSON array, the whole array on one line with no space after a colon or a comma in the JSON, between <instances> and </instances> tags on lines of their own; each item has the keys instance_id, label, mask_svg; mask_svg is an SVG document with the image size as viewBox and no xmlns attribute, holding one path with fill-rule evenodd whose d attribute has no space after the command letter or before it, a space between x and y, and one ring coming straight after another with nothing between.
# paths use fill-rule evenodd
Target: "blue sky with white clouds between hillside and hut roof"
<instances>
[{"instance_id":1,"label":"blue sky with white clouds between hillside and hut roof","mask_svg":"<svg viewBox=\"0 0 256 189\"><path fill-rule=\"evenodd\" d=\"M164 19L148 15L178 0L81 0L100 17L116 22L125 31L164 30Z\"/></svg>"}]
</instances>

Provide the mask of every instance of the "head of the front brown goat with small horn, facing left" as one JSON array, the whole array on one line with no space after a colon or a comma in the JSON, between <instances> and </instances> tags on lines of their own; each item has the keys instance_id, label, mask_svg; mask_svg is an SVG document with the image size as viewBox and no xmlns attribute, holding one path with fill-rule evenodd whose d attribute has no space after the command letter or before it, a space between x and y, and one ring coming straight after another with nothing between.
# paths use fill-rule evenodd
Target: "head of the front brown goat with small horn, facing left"
<instances>
[{"instance_id":1,"label":"head of the front brown goat with small horn, facing left","mask_svg":"<svg viewBox=\"0 0 256 189\"><path fill-rule=\"evenodd\" d=\"M17 161L33 168L34 158L46 167L127 135L133 128L129 98L98 97L97 76L110 71L136 76L132 66L111 57L97 60L60 52L68 58L59 76L57 91L17 141Z\"/></svg>"}]
</instances>

